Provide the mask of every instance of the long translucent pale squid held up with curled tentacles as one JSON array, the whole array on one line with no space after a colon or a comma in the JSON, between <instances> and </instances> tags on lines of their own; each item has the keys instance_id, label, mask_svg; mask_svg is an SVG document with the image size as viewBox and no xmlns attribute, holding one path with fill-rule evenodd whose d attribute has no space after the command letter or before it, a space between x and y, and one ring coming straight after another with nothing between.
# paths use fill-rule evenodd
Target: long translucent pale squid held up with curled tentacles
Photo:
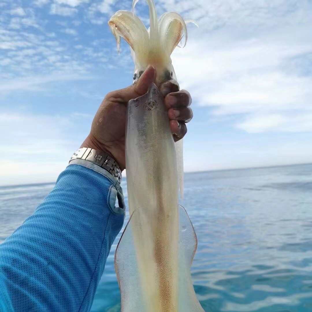
<instances>
[{"instance_id":1,"label":"long translucent pale squid held up with curled tentacles","mask_svg":"<svg viewBox=\"0 0 312 312\"><path fill-rule=\"evenodd\" d=\"M108 24L120 50L120 39L130 46L134 83L149 65L157 72L148 92L127 106L126 168L130 219L115 252L115 270L122 312L202 312L190 268L197 237L183 197L183 145L174 143L159 92L165 81L176 81L171 53L187 41L187 26L178 13L159 19L153 0L150 28L132 11L117 11ZM195 23L195 22L194 22Z\"/></svg>"}]
</instances>

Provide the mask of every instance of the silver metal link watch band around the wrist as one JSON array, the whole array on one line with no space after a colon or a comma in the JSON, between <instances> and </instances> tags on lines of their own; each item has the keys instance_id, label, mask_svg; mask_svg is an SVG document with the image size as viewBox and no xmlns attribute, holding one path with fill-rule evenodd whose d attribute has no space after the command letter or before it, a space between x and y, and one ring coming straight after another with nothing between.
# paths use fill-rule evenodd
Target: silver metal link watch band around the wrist
<instances>
[{"instance_id":1,"label":"silver metal link watch band around the wrist","mask_svg":"<svg viewBox=\"0 0 312 312\"><path fill-rule=\"evenodd\" d=\"M76 150L76 152L71 156L69 162L74 159L83 159L99 165L101 168L107 170L111 175L113 175L120 184L121 170L118 163L109 154L95 149L82 147Z\"/></svg>"}]
</instances>

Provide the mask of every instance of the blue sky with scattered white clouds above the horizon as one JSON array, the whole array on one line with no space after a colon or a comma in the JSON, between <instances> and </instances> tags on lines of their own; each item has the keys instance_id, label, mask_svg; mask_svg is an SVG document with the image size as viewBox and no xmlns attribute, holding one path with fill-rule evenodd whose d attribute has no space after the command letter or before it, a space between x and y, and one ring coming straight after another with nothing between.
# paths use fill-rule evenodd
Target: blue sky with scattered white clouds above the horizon
<instances>
[{"instance_id":1,"label":"blue sky with scattered white clouds above the horizon","mask_svg":"<svg viewBox=\"0 0 312 312\"><path fill-rule=\"evenodd\" d=\"M172 55L193 98L185 171L312 162L312 1L156 0L194 19ZM53 182L105 94L132 83L107 22L129 0L0 0L0 185ZM135 13L148 26L146 3Z\"/></svg>"}]
</instances>

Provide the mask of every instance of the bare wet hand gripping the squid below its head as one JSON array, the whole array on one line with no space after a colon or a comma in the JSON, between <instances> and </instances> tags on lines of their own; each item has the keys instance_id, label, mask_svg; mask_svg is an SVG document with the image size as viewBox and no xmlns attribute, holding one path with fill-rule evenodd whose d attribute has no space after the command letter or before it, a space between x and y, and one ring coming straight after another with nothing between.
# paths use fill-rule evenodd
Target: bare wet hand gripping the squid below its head
<instances>
[{"instance_id":1,"label":"bare wet hand gripping the squid below its head","mask_svg":"<svg viewBox=\"0 0 312 312\"><path fill-rule=\"evenodd\" d=\"M96 112L90 134L81 147L110 154L123 170L127 104L129 100L144 95L155 78L155 68L149 66L134 85L108 93ZM187 132L185 123L193 118L193 112L189 107L192 102L191 95L186 90L179 91L177 83L171 80L160 85L159 90L164 96L173 139L178 141Z\"/></svg>"}]
</instances>

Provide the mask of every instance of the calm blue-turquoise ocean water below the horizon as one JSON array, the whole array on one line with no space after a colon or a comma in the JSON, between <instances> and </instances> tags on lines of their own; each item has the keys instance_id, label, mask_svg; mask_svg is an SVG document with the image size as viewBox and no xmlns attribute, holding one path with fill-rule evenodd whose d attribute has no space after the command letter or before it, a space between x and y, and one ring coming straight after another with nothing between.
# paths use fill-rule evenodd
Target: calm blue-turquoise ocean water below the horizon
<instances>
[{"instance_id":1,"label":"calm blue-turquoise ocean water below the horizon","mask_svg":"<svg viewBox=\"0 0 312 312\"><path fill-rule=\"evenodd\" d=\"M53 185L0 187L0 243ZM186 173L181 204L198 238L191 271L206 312L312 311L312 164ZM93 312L120 311L119 238Z\"/></svg>"}]
</instances>

